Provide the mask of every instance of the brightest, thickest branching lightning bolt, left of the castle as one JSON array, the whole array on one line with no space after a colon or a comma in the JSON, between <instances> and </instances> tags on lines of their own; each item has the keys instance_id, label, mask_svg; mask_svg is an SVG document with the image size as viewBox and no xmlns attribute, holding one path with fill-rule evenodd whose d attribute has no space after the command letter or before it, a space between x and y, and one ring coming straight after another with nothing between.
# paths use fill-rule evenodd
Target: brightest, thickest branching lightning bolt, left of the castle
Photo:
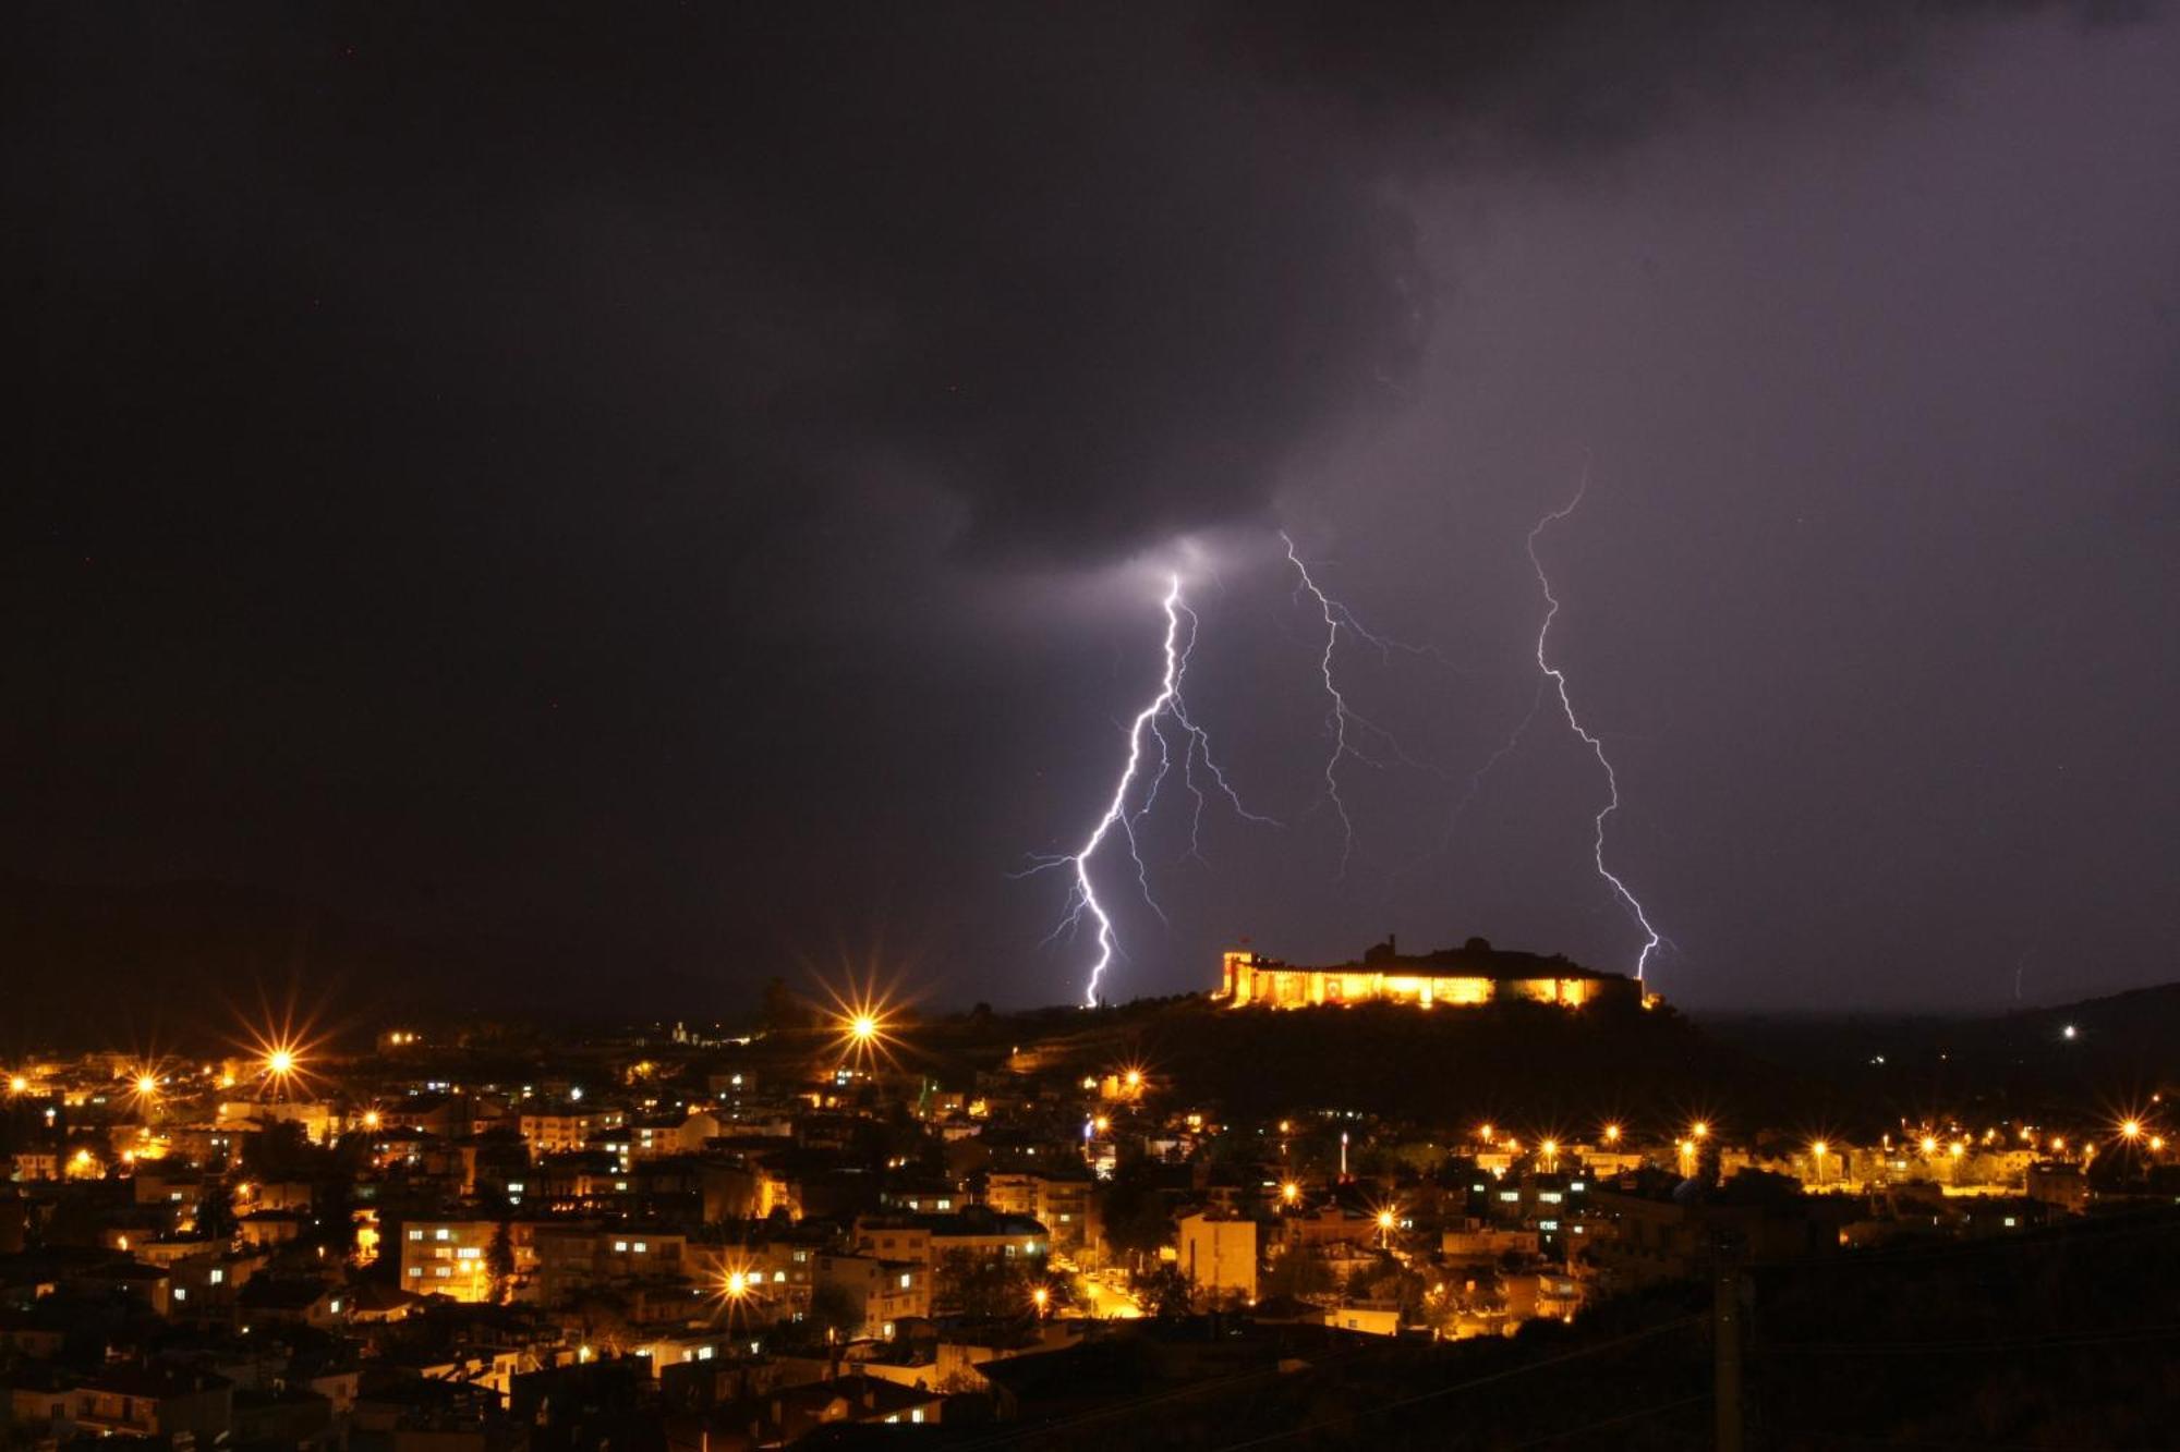
<instances>
[{"instance_id":1,"label":"brightest, thickest branching lightning bolt, left of the castle","mask_svg":"<svg viewBox=\"0 0 2180 1452\"><path fill-rule=\"evenodd\" d=\"M1190 855L1201 857L1199 831L1203 824L1206 794L1197 785L1199 763L1203 772L1210 776L1216 791L1225 796L1227 802L1234 807L1236 815L1240 815L1245 822L1256 822L1260 826L1277 826L1277 822L1273 822L1271 818L1258 815L1243 804L1240 794L1234 791L1234 785L1227 781L1225 772L1212 759L1210 735L1201 726L1197 726L1197 722L1188 715L1188 702L1182 695L1182 680L1184 676L1188 676L1188 656L1195 654L1197 630L1201 621L1197 619L1197 613L1190 610L1188 604L1182 600L1182 578L1177 573L1168 578L1164 608L1166 608L1166 643L1164 643L1166 669L1164 676L1160 678L1158 693L1142 706L1142 711L1136 713L1134 722L1129 722L1127 765L1121 770L1121 778L1112 787L1112 800L1105 802L1105 813L1090 828L1090 835L1083 837L1083 844L1073 852L1040 857L1036 866L1031 866L1027 872L1016 872L1016 876L1031 876L1038 872L1066 868L1073 874L1075 883L1068 887L1068 909L1044 942L1053 942L1062 933L1081 929L1083 918L1092 922L1097 937L1097 957L1090 964L1090 988L1086 992L1086 1007L1099 1005L1097 996L1099 981L1105 977L1105 970L1112 968L1112 961L1121 957L1121 940L1114 935L1112 913L1105 911L1103 903L1099 903L1097 883L1090 876L1090 859L1097 857L1099 848L1103 848L1107 839L1118 835L1123 842L1127 842L1127 855L1136 863L1136 885L1142 890L1142 900L1151 905L1151 911L1155 911L1160 920L1164 920L1166 916L1164 909L1158 907L1158 900L1151 896L1151 872L1144 866L1142 850L1136 844L1136 824L1158 802L1158 789L1164 785L1168 772L1173 770L1173 743L1166 739L1166 728L1162 726L1162 722L1171 722L1173 728L1184 737L1182 783L1195 796L1195 818L1190 820L1188 828ZM1142 791L1142 802L1136 804L1134 811L1129 811L1129 798L1136 791L1136 781L1138 776L1144 776L1144 754L1147 754L1144 737L1158 741L1158 765L1153 772L1149 772L1147 778L1149 785Z\"/></svg>"}]
</instances>

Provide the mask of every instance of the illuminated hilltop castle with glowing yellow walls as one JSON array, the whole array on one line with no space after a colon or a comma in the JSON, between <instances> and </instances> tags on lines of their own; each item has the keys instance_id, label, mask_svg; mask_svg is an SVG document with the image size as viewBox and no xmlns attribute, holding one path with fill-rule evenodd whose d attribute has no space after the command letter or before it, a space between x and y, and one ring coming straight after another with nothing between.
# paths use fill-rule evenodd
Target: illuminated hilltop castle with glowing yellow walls
<instances>
[{"instance_id":1,"label":"illuminated hilltop castle with glowing yellow walls","mask_svg":"<svg viewBox=\"0 0 2180 1452\"><path fill-rule=\"evenodd\" d=\"M1216 994L1227 1007L1312 1007L1321 1003L1439 1003L1474 1005L1504 999L1530 1003L1644 1005L1642 983L1620 972L1598 972L1561 955L1502 953L1482 937L1458 948L1402 955L1386 937L1360 964L1295 968L1249 951L1225 955L1225 983Z\"/></svg>"}]
</instances>

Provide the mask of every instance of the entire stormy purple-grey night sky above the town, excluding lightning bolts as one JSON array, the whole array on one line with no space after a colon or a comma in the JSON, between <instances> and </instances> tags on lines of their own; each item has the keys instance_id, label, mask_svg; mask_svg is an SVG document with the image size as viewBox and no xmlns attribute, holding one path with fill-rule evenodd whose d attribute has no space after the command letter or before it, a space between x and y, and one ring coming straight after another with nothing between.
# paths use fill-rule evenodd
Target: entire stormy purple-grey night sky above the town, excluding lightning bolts
<instances>
[{"instance_id":1,"label":"entire stormy purple-grey night sky above the town, excluding lightning bolts","mask_svg":"<svg viewBox=\"0 0 2180 1452\"><path fill-rule=\"evenodd\" d=\"M1884 20L1873 20L1881 15ZM1912 15L1912 17L1910 17ZM4 22L0 870L1077 999L1397 931L1698 1007L2180 977L2167 7ZM1376 761L1323 798L1323 617ZM1408 650L1413 648L1413 650ZM1386 739L1391 733L1397 746ZM1456 813L1456 804L1467 804Z\"/></svg>"}]
</instances>

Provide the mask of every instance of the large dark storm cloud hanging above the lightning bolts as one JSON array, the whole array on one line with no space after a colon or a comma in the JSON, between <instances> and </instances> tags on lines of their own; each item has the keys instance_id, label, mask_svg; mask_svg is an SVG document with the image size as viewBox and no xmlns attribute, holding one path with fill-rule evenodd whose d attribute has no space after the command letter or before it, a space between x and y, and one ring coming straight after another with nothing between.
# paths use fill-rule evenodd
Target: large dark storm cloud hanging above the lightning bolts
<instances>
[{"instance_id":1,"label":"large dark storm cloud hanging above the lightning bolts","mask_svg":"<svg viewBox=\"0 0 2180 1452\"><path fill-rule=\"evenodd\" d=\"M362 397L606 528L905 475L972 549L1097 558L1249 517L1397 406L1434 288L1393 179L1892 78L1942 15L48 9L11 251L63 360L179 375L161 432L251 429L196 395L240 373L373 488L425 486Z\"/></svg>"}]
</instances>

